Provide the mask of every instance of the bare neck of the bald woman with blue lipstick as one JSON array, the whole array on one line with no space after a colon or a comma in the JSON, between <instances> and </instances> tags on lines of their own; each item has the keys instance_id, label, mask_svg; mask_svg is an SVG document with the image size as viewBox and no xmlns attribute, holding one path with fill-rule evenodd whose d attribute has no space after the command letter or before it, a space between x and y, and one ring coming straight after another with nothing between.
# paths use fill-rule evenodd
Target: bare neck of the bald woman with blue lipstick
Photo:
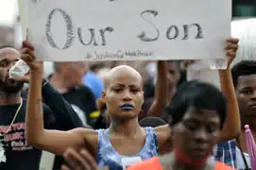
<instances>
[{"instance_id":1,"label":"bare neck of the bald woman with blue lipstick","mask_svg":"<svg viewBox=\"0 0 256 170\"><path fill-rule=\"evenodd\" d=\"M111 119L110 133L118 133L124 136L133 137L138 134L140 130L142 130L142 128L139 125L137 117L128 121Z\"/></svg>"}]
</instances>

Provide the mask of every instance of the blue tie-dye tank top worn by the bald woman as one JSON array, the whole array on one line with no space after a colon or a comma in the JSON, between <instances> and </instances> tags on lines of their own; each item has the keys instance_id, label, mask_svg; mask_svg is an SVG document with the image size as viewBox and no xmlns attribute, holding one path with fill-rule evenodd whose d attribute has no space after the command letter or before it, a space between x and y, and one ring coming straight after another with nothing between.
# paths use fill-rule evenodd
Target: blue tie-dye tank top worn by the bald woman
<instances>
[{"instance_id":1,"label":"blue tie-dye tank top worn by the bald woman","mask_svg":"<svg viewBox=\"0 0 256 170\"><path fill-rule=\"evenodd\" d=\"M138 161L144 161L158 155L158 140L153 127L145 127L145 144L136 155L124 156L113 148L108 129L98 130L98 166L109 166L111 170L124 170Z\"/></svg>"}]
</instances>

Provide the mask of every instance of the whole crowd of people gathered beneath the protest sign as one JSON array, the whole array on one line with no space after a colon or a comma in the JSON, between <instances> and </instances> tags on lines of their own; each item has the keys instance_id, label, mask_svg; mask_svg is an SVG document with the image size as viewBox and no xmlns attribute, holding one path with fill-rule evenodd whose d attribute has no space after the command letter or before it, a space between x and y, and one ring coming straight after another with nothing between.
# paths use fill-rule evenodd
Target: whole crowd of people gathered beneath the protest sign
<instances>
[{"instance_id":1,"label":"whole crowd of people gathered beneath the protest sign","mask_svg":"<svg viewBox=\"0 0 256 170\"><path fill-rule=\"evenodd\" d=\"M48 151L55 160L44 170L255 170L245 126L256 139L256 61L232 64L238 48L226 40L228 67L212 79L219 88L187 80L196 60L50 68L28 41L1 45L0 169L39 170ZM10 77L20 59L29 72Z\"/></svg>"}]
</instances>

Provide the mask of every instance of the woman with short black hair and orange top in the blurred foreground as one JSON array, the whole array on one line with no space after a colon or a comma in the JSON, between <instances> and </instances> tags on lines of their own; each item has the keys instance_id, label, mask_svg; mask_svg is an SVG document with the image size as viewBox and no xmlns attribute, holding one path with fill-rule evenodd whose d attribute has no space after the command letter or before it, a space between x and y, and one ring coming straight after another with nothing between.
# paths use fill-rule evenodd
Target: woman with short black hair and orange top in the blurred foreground
<instances>
[{"instance_id":1,"label":"woman with short black hair and orange top in the blurred foreground","mask_svg":"<svg viewBox=\"0 0 256 170\"><path fill-rule=\"evenodd\" d=\"M227 116L225 96L213 85L192 80L179 88L166 108L172 128L172 152L142 161L128 170L229 170L214 161L212 150Z\"/></svg>"}]
</instances>

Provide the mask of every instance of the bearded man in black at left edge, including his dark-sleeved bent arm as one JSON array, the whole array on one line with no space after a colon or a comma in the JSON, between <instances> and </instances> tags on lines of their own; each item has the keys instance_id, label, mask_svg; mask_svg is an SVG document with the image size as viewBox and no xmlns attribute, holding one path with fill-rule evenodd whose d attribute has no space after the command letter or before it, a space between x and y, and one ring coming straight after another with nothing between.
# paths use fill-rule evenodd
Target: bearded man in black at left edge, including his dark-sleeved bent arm
<instances>
[{"instance_id":1,"label":"bearded man in black at left edge, including his dark-sleeved bent arm","mask_svg":"<svg viewBox=\"0 0 256 170\"><path fill-rule=\"evenodd\" d=\"M42 155L41 150L26 144L26 99L21 97L24 83L9 78L10 67L19 59L19 52L11 46L0 47L1 170L37 170ZM43 105L46 121L44 127L60 130L82 127L81 121L70 105L65 100L58 101L61 94L58 95L51 90L47 81L43 81L43 97L48 104L48 106Z\"/></svg>"}]
</instances>

